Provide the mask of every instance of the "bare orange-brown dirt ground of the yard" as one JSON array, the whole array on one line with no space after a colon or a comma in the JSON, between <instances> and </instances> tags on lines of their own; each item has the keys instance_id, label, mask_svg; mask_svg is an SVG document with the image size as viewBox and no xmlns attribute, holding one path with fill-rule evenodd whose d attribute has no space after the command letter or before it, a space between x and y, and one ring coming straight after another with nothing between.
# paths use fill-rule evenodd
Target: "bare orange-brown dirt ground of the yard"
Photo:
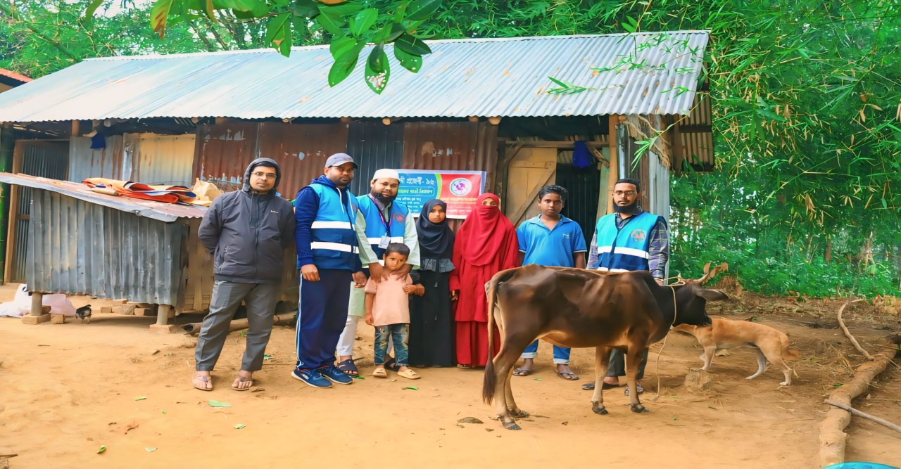
<instances>
[{"instance_id":1,"label":"bare orange-brown dirt ground of the yard","mask_svg":"<svg viewBox=\"0 0 901 469\"><path fill-rule=\"evenodd\" d=\"M0 301L11 299L12 289L3 287ZM365 379L350 386L305 386L289 375L295 337L289 327L273 331L271 358L255 375L257 392L229 388L243 349L239 332L228 338L214 391L201 392L190 385L196 338L151 334L153 318L99 308L89 324L28 326L0 318L0 455L18 454L8 460L14 469L459 467L502 460L511 467L819 467L822 401L863 359L841 330L824 324L829 314L805 315L805 308L773 306L747 293L710 308L732 319L753 315L786 331L801 351L791 386L779 386L775 367L745 380L756 359L751 349L737 349L714 359L712 392L690 392L683 380L699 366L700 348L694 338L670 334L659 371L660 344L651 349L642 396L651 413L642 415L629 410L618 390L605 392L610 414L595 415L590 393L580 388L593 379L593 350L573 350L572 367L582 379L571 383L552 372L551 347L542 343L537 373L513 378L517 401L533 414L520 420L518 432L490 419L492 409L480 401L480 370L428 368L419 370L418 381L395 374L379 380L366 366ZM893 353L875 344L899 329L897 318L874 324L863 308L846 316L864 347ZM817 323L825 327L811 327ZM361 362L371 364L371 328L361 324L358 335ZM901 422L901 371L882 374L866 397L855 401L859 409ZM485 423L457 423L465 417ZM848 432L847 461L901 464L896 432L856 417ZM105 452L97 454L101 446Z\"/></svg>"}]
</instances>

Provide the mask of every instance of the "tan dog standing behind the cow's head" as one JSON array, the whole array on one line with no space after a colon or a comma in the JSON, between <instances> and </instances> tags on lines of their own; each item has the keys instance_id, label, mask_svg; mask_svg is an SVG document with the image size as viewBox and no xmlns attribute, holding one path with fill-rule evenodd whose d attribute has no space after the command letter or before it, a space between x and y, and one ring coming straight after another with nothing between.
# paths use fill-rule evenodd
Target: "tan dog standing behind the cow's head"
<instances>
[{"instance_id":1,"label":"tan dog standing behind the cow's head","mask_svg":"<svg viewBox=\"0 0 901 469\"><path fill-rule=\"evenodd\" d=\"M695 336L704 347L701 360L704 360L702 370L710 368L710 362L714 359L714 353L721 348L752 347L757 350L757 373L751 374L746 379L754 379L767 369L767 360L777 365L785 374L786 380L779 383L783 386L791 384L793 370L786 365L783 358L796 359L797 350L788 348L788 336L776 329L747 320L724 320L711 318L713 326L697 327L687 324L679 324L673 330L685 332Z\"/></svg>"}]
</instances>

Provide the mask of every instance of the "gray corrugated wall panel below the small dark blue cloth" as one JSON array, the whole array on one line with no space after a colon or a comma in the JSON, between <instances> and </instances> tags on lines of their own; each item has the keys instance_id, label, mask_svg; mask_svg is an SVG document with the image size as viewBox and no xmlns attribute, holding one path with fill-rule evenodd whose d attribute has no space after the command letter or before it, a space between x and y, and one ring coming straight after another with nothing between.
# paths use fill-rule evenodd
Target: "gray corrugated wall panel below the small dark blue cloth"
<instances>
[{"instance_id":1,"label":"gray corrugated wall panel below the small dark blue cloth","mask_svg":"<svg viewBox=\"0 0 901 469\"><path fill-rule=\"evenodd\" d=\"M68 180L80 183L88 177L131 179L132 161L125 158L122 135L106 137L103 149L91 149L88 137L68 140Z\"/></svg>"}]
</instances>

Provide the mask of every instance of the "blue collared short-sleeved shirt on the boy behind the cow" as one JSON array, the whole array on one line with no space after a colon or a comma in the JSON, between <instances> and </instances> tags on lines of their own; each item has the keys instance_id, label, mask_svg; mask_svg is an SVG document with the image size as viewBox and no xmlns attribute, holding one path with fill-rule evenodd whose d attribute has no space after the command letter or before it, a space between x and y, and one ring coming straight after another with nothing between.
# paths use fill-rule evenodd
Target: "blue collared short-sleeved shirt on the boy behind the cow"
<instances>
[{"instance_id":1,"label":"blue collared short-sleeved shirt on the boy behind the cow","mask_svg":"<svg viewBox=\"0 0 901 469\"><path fill-rule=\"evenodd\" d=\"M525 253L523 266L575 267L575 254L587 251L582 227L563 215L553 230L544 226L541 215L523 221L516 229L516 238L520 252Z\"/></svg>"}]
</instances>

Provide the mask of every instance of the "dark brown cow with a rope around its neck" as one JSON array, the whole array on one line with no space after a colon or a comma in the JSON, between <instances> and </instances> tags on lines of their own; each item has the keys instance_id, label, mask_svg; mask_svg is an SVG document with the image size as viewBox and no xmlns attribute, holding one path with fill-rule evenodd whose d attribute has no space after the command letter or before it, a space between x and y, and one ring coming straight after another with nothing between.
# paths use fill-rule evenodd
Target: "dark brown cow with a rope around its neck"
<instances>
[{"instance_id":1,"label":"dark brown cow with a rope around its neck","mask_svg":"<svg viewBox=\"0 0 901 469\"><path fill-rule=\"evenodd\" d=\"M488 330L497 323L501 347L485 367L482 397L496 398L497 416L508 429L520 429L514 418L529 414L516 406L510 373L526 346L544 338L560 347L596 347L592 410L606 414L603 384L610 351L625 350L629 403L647 412L635 392L642 350L678 324L709 326L709 301L728 297L697 281L658 285L651 273L605 273L566 267L522 266L498 272L486 284ZM674 307L675 301L675 307ZM494 334L488 334L489 354Z\"/></svg>"}]
</instances>

